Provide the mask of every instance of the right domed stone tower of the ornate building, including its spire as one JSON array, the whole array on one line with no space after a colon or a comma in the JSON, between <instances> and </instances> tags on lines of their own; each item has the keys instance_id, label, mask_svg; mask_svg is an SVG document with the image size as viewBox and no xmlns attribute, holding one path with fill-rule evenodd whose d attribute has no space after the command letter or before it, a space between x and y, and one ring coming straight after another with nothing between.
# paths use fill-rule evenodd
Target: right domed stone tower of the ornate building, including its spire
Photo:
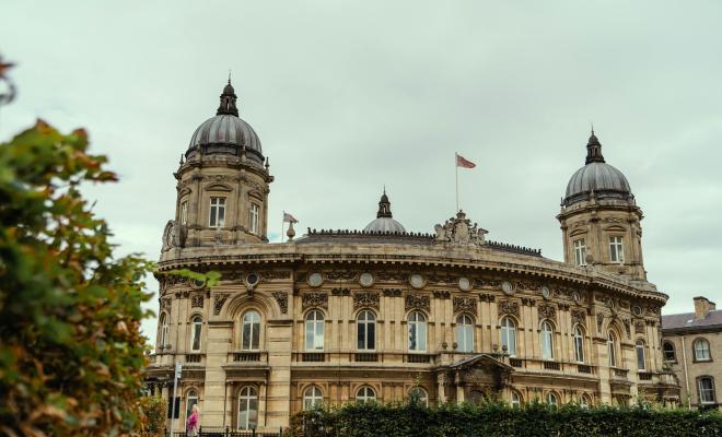
<instances>
[{"instance_id":1,"label":"right domed stone tower of the ornate building, including its spire","mask_svg":"<svg viewBox=\"0 0 722 437\"><path fill-rule=\"evenodd\" d=\"M606 270L647 280L642 262L642 210L625 175L607 164L592 130L585 165L567 185L557 215L564 241L564 261L601 265Z\"/></svg>"}]
</instances>

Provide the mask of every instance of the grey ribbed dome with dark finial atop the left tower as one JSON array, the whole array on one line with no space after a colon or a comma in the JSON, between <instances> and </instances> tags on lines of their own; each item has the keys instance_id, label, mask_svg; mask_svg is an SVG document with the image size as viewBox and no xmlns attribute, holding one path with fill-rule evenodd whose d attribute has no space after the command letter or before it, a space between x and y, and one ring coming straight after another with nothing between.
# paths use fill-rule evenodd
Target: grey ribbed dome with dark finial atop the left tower
<instances>
[{"instance_id":1,"label":"grey ribbed dome with dark finial atop the left tower","mask_svg":"<svg viewBox=\"0 0 722 437\"><path fill-rule=\"evenodd\" d=\"M238 117L236 95L229 81L221 94L221 104L211 117L203 121L190 138L186 156L195 151L203 155L230 154L240 156L245 147L246 157L263 164L260 140L251 125Z\"/></svg>"}]
</instances>

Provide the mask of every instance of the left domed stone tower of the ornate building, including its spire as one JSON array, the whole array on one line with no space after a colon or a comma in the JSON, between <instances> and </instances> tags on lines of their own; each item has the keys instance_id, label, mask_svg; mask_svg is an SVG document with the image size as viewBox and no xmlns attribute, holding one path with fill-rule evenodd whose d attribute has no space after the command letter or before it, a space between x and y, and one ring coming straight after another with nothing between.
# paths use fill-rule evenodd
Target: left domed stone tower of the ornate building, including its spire
<instances>
[{"instance_id":1,"label":"left domed stone tower of the ornate building, including its spire","mask_svg":"<svg viewBox=\"0 0 722 437\"><path fill-rule=\"evenodd\" d=\"M268 243L268 158L238 117L230 79L220 97L216 116L196 129L174 174L176 215L166 226L164 250Z\"/></svg>"}]
</instances>

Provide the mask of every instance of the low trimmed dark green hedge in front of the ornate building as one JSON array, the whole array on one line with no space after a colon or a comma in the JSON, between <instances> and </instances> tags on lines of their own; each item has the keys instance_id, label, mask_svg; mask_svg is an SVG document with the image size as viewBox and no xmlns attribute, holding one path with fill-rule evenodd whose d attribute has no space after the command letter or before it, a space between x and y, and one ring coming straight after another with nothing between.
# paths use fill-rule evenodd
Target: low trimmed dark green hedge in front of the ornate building
<instances>
[{"instance_id":1,"label":"low trimmed dark green hedge in front of the ornate building","mask_svg":"<svg viewBox=\"0 0 722 437\"><path fill-rule=\"evenodd\" d=\"M299 413L291 418L291 432L305 437L698 437L722 435L722 415L649 405L555 409L531 402L520 409L488 402L426 408L370 402Z\"/></svg>"}]
</instances>

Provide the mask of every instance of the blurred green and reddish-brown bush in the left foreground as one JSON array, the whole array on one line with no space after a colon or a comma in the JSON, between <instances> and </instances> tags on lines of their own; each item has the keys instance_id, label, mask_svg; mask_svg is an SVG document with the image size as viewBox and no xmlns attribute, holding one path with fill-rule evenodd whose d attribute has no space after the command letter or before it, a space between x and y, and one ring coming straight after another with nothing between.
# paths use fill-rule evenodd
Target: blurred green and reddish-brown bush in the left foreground
<instances>
[{"instance_id":1,"label":"blurred green and reddish-brown bush in the left foreground","mask_svg":"<svg viewBox=\"0 0 722 437\"><path fill-rule=\"evenodd\" d=\"M83 130L43 121L0 144L0 435L131 433L152 264L116 259L79 186L116 176Z\"/></svg>"}]
</instances>

